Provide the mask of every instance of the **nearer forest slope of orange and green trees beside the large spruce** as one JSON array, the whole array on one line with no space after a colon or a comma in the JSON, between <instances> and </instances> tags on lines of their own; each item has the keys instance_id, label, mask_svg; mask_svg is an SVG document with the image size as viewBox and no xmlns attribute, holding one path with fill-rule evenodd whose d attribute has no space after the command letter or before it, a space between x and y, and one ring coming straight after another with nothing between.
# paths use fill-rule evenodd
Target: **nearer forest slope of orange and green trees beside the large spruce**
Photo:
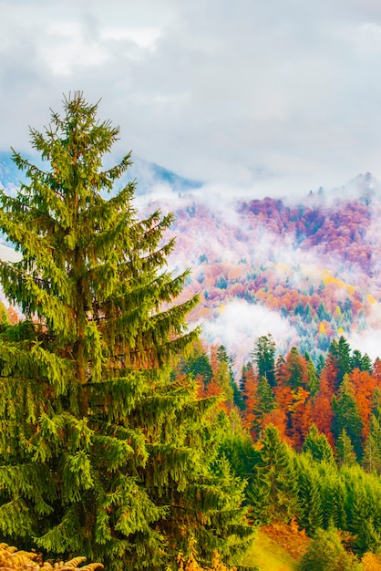
<instances>
[{"instance_id":1,"label":"nearer forest slope of orange and green trees beside the large spruce","mask_svg":"<svg viewBox=\"0 0 381 571\"><path fill-rule=\"evenodd\" d=\"M370 561L381 548L381 361L352 350L345 337L317 368L297 348L276 354L273 337L259 337L238 388L223 347L199 343L180 371L195 376L201 398L219 399L222 417L240 419L243 430L227 431L221 452L248 482L252 522L294 522L318 550L339 530L347 553ZM376 559L372 565L364 568L380 568ZM357 567L353 560L332 568Z\"/></svg>"}]
</instances>

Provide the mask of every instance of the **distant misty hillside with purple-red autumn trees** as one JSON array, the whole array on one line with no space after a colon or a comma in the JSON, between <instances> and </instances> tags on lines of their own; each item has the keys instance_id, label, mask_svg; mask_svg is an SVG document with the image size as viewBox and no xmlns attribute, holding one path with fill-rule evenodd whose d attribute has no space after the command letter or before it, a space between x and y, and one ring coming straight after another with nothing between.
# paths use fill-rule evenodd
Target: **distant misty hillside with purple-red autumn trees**
<instances>
[{"instance_id":1,"label":"distant misty hillside with purple-red autumn trees","mask_svg":"<svg viewBox=\"0 0 381 571\"><path fill-rule=\"evenodd\" d=\"M208 204L184 195L171 231L173 264L192 269L184 296L201 296L191 318L209 343L241 364L258 332L270 331L283 350L296 346L316 362L344 335L376 358L381 193L369 174L303 199Z\"/></svg>"}]
</instances>

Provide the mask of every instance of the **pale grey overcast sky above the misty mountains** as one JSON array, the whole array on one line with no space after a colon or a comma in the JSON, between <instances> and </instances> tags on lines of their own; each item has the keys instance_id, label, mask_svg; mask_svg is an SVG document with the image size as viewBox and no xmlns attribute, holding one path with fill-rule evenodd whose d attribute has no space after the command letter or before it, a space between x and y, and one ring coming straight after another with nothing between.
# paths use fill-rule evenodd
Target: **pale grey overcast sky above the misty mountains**
<instances>
[{"instance_id":1,"label":"pale grey overcast sky above the misty mountains","mask_svg":"<svg viewBox=\"0 0 381 571\"><path fill-rule=\"evenodd\" d=\"M132 149L232 193L381 181L379 0L0 0L0 150L83 90Z\"/></svg>"}]
</instances>

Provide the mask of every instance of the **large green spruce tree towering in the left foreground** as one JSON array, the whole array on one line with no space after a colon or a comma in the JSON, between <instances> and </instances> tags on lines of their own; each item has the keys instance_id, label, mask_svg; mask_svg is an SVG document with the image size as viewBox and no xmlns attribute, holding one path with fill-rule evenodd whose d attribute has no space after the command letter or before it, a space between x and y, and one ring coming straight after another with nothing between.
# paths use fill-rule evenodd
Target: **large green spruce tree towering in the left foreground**
<instances>
[{"instance_id":1,"label":"large green spruce tree towering in the left foreground","mask_svg":"<svg viewBox=\"0 0 381 571\"><path fill-rule=\"evenodd\" d=\"M1 192L0 227L22 254L1 263L25 319L0 335L0 535L108 569L162 568L190 533L207 558L247 535L242 485L219 462L199 401L170 367L198 335L188 273L166 270L173 220L139 220L135 182L111 197L128 154L105 170L118 128L76 92L31 130L41 166ZM47 166L46 166L47 165Z\"/></svg>"}]
</instances>

